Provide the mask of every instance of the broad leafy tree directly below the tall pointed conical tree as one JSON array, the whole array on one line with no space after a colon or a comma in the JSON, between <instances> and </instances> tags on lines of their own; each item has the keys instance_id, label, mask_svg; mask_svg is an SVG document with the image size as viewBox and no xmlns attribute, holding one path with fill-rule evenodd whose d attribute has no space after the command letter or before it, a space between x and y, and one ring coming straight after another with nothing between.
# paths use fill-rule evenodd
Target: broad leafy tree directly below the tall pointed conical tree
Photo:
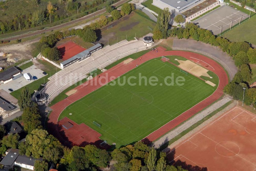
<instances>
[{"instance_id":1,"label":"broad leafy tree directly below the tall pointed conical tree","mask_svg":"<svg viewBox=\"0 0 256 171\"><path fill-rule=\"evenodd\" d=\"M33 103L31 107L26 107L22 114L22 120L24 123L24 131L27 133L31 133L35 129L40 129L41 121L40 121L40 114L38 111L38 107L36 103Z\"/></svg>"}]
</instances>

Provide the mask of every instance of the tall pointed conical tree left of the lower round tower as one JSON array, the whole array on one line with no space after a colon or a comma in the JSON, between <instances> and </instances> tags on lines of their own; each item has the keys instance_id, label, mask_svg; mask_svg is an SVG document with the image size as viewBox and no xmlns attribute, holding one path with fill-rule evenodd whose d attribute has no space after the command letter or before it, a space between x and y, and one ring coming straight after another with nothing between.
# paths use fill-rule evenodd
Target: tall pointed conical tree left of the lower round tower
<instances>
[{"instance_id":1,"label":"tall pointed conical tree left of the lower round tower","mask_svg":"<svg viewBox=\"0 0 256 171\"><path fill-rule=\"evenodd\" d=\"M27 86L25 86L22 89L22 91L20 92L18 104L19 104L20 110L23 110L24 108L31 106L31 104L32 104L31 94L30 94Z\"/></svg>"}]
</instances>

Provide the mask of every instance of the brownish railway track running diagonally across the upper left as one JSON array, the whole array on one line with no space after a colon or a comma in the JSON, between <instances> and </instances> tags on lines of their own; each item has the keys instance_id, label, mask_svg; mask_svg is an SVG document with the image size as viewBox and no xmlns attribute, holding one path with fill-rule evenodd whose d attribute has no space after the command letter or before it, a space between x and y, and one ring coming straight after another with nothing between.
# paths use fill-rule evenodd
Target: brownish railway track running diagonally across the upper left
<instances>
[{"instance_id":1,"label":"brownish railway track running diagonally across the upper left","mask_svg":"<svg viewBox=\"0 0 256 171\"><path fill-rule=\"evenodd\" d=\"M113 6L119 6L125 2L128 2L129 0L121 0L115 4L113 4ZM75 23L78 23L80 21L83 21L83 20L86 20L86 19L89 19L91 17L94 17L95 15L100 15L100 14L103 14L106 12L106 9L103 8L101 10L98 10L94 13L91 13L91 14L88 14L86 16L83 16L81 18L78 18L78 19L75 19L75 20L72 20L70 22L67 22L67 23L63 23L63 24L60 24L60 25L57 25L57 26L53 26L53 27L50 27L50 28L47 28L47 29L43 29L43 30L37 30L37 31L34 31L34 32L31 32L31 33L25 33L25 34L22 34L22 35L17 35L17 36L12 36L12 37L7 37L7 38L3 38L3 39L0 39L2 41L6 41L6 40L17 40L17 39L22 39L22 38L25 38L25 37L29 37L29 36L35 36L35 35L38 35L38 34L41 34L41 33L45 33L47 31L51 31L51 30L56 30L56 29L60 29L62 27L66 27L68 25L71 25L71 24L75 24Z\"/></svg>"}]
</instances>

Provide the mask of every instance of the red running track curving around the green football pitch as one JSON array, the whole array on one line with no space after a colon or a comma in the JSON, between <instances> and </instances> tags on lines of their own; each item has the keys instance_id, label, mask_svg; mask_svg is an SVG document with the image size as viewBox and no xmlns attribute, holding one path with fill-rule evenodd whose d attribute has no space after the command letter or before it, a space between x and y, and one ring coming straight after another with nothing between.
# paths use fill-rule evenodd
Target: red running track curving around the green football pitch
<instances>
[{"instance_id":1,"label":"red running track curving around the green football pitch","mask_svg":"<svg viewBox=\"0 0 256 171\"><path fill-rule=\"evenodd\" d=\"M206 108L208 105L211 103L215 102L217 99L219 99L223 95L223 88L225 87L226 84L228 84L228 76L225 72L225 70L214 60L207 58L203 55L196 54L194 52L188 52L188 51L178 51L178 50L173 50L173 51L165 51L166 49L162 47L157 48L158 52L156 51L151 51L143 56L141 56L138 59L133 60L132 62L128 64L124 64L123 62L119 63L118 65L112 67L111 69L101 73L98 77L94 77L93 79L87 81L86 85L80 85L76 87L75 89L77 90L76 93L70 95L69 97L66 98L66 100L62 100L53 106L51 106L51 109L53 110L49 116L49 121L48 121L48 131L50 134L53 134L55 137L59 139L59 141L63 144L65 144L65 140L63 137L60 135L57 129L57 122L58 122L58 117L60 113L70 105L71 103L83 98L87 94L93 92L94 90L97 90L98 88L102 87L102 84L99 84L99 82L104 82L105 84L112 81L113 77L117 78L119 76L122 76L124 73L134 69L136 65L141 65L142 63L157 58L161 56L170 56L170 55L177 55L177 56L182 56L184 58L187 58L191 61L198 62L199 65L207 68L210 71L213 71L218 77L219 77L219 85L216 91L210 95L208 98L205 100L199 102L189 110L185 111L172 121L168 122L158 130L154 131L150 135L144 138L144 142L149 143L152 142L159 137L163 136L167 132L169 132L171 129L179 125L180 123L184 122L187 120L189 117L193 116L197 112L201 111L202 109ZM110 79L111 77L111 79ZM106 79L105 79L106 78ZM68 138L68 137L67 137ZM93 142L91 142L93 143Z\"/></svg>"}]
</instances>

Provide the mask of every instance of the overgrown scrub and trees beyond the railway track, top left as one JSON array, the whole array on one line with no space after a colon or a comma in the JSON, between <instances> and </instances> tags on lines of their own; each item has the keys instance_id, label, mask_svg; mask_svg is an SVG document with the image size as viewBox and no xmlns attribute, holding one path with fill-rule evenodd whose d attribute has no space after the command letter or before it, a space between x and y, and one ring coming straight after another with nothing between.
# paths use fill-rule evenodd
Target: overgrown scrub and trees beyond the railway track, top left
<instances>
[{"instance_id":1,"label":"overgrown scrub and trees beyond the railway track, top left","mask_svg":"<svg viewBox=\"0 0 256 171\"><path fill-rule=\"evenodd\" d=\"M8 20L1 19L0 17L0 34L18 31L19 29L26 30L36 26L43 26L50 22L53 23L63 20L76 15L77 9L79 13L83 14L81 16L85 16L104 8L104 6L98 7L100 4L106 3L107 7L118 1L119 0L96 0L90 2L85 0L59 0L54 4L51 1L45 4L41 1L33 0L32 2L24 3L28 3L27 6L34 10L28 10L26 6L23 6L24 9L19 9L20 15L12 13L11 8L13 5L16 5L15 1L0 1L0 16L8 16Z\"/></svg>"}]
</instances>

